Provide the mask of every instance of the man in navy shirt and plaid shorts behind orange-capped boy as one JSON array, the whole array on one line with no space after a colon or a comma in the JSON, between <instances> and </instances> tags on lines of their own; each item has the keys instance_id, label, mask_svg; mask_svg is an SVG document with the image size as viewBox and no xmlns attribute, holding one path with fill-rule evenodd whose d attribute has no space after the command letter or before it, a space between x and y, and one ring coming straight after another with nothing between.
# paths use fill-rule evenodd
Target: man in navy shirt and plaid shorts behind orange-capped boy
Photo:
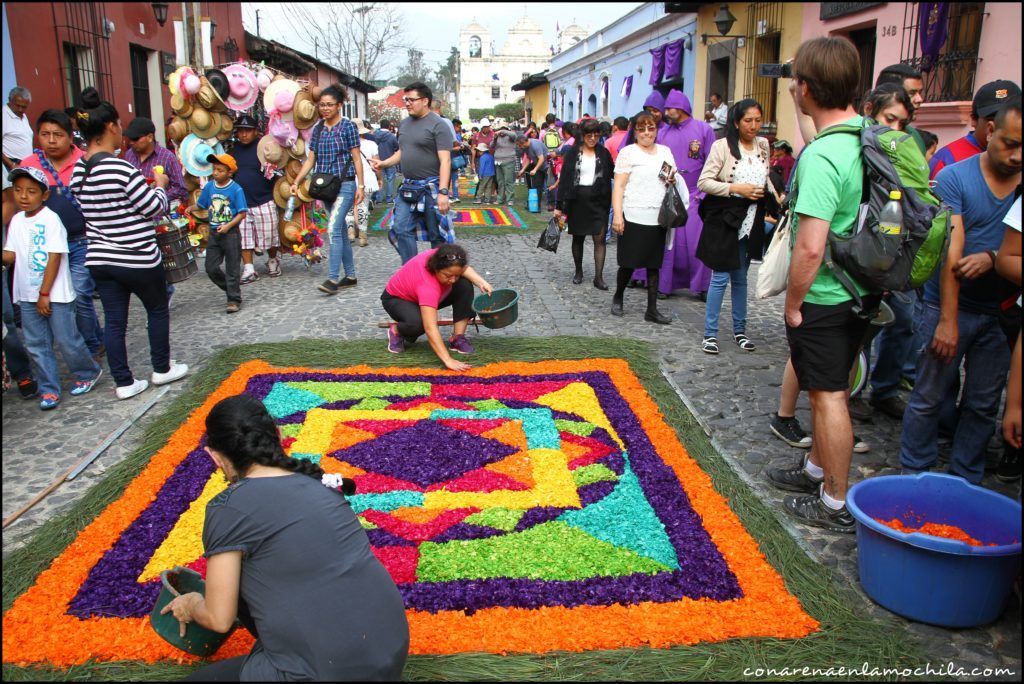
<instances>
[{"instance_id":1,"label":"man in navy shirt and plaid shorts behind orange-capped boy","mask_svg":"<svg viewBox=\"0 0 1024 684\"><path fill-rule=\"evenodd\" d=\"M256 154L259 131L256 120L243 114L234 122L238 142L231 148L231 156L238 164L234 182L242 186L246 196L246 218L242 222L242 285L255 283L259 273L253 265L253 250L266 251L266 270L270 277L281 275L281 260L278 259L278 205L273 201L273 183L263 173Z\"/></svg>"}]
</instances>

